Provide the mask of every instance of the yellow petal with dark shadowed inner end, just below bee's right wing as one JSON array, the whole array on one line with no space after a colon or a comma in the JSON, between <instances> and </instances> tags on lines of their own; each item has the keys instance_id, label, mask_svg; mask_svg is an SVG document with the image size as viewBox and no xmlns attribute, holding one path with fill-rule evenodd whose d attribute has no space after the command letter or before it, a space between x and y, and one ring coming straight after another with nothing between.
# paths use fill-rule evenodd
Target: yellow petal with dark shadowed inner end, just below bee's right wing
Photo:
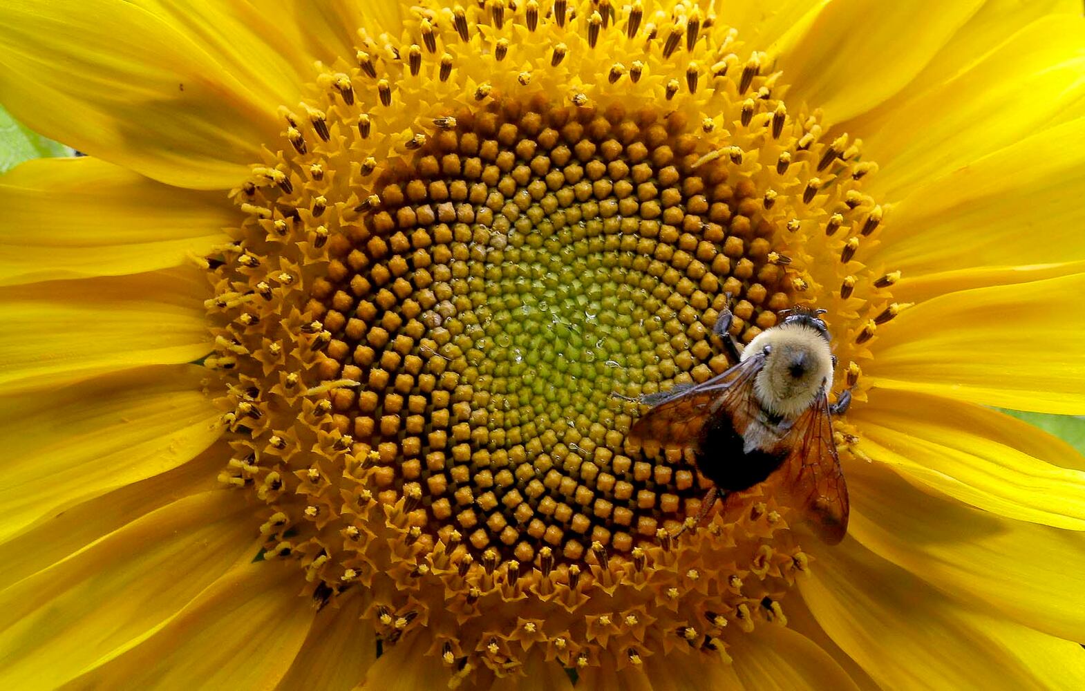
<instances>
[{"instance_id":1,"label":"yellow petal with dark shadowed inner end, just below bee's right wing","mask_svg":"<svg viewBox=\"0 0 1085 691\"><path fill-rule=\"evenodd\" d=\"M1085 537L919 491L880 465L854 464L848 533L868 549L981 607L1085 640Z\"/></svg>"}]
</instances>

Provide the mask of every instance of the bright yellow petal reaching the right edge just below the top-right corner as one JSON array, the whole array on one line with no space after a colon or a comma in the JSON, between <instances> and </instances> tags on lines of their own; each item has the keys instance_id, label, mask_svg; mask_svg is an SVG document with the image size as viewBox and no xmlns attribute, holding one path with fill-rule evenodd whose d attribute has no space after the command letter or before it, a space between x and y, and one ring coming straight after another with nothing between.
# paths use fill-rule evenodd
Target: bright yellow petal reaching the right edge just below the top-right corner
<instances>
[{"instance_id":1,"label":"bright yellow petal reaching the right edge just below the top-right corner","mask_svg":"<svg viewBox=\"0 0 1085 691\"><path fill-rule=\"evenodd\" d=\"M880 167L867 191L901 199L932 178L1080 117L1083 69L1085 17L1048 16L889 117L850 124L864 140L864 157Z\"/></svg>"}]
</instances>

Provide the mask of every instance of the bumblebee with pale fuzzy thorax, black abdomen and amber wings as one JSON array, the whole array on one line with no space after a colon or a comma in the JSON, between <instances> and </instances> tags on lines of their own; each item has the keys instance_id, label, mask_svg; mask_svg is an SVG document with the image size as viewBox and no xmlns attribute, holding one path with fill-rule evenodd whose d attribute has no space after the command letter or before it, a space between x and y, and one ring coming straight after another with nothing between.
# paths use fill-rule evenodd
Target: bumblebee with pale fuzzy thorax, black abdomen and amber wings
<instances>
[{"instance_id":1,"label":"bumblebee with pale fuzzy thorax, black abdomen and amber wings","mask_svg":"<svg viewBox=\"0 0 1085 691\"><path fill-rule=\"evenodd\" d=\"M725 309L713 331L737 362L733 367L700 384L634 399L652 408L634 423L629 437L641 445L691 448L698 470L714 484L692 525L720 494L771 477L786 495L781 501L820 539L829 545L844 539L847 486L832 415L846 411L852 396L845 391L829 404L835 357L822 313L789 310L778 325L740 349L729 334L731 312Z\"/></svg>"}]
</instances>

